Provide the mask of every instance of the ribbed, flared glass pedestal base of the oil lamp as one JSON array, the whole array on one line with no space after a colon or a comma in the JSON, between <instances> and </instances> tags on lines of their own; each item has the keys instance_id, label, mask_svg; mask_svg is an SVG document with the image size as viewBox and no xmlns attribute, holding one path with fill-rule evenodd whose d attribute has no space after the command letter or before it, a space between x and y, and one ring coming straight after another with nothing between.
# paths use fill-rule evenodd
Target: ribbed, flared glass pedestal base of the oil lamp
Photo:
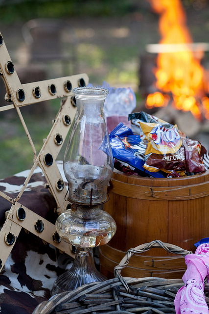
<instances>
[{"instance_id":1,"label":"ribbed, flared glass pedestal base of the oil lamp","mask_svg":"<svg viewBox=\"0 0 209 314\"><path fill-rule=\"evenodd\" d=\"M74 290L82 285L107 280L95 267L92 248L76 248L74 262L69 270L54 282L51 295Z\"/></svg>"}]
</instances>

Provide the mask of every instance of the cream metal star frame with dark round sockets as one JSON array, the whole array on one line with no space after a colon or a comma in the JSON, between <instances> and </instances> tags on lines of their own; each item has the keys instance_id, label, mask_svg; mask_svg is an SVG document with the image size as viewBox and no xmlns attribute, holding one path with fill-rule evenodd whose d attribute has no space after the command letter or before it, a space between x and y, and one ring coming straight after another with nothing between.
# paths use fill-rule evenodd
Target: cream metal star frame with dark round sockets
<instances>
[{"instance_id":1,"label":"cream metal star frame with dark round sockets","mask_svg":"<svg viewBox=\"0 0 209 314\"><path fill-rule=\"evenodd\" d=\"M28 70L29 71L29 70ZM11 203L11 209L5 219L5 223L0 231L0 270L6 262L18 235L22 228L39 236L44 241L54 245L61 251L74 256L71 253L70 245L63 241L56 241L55 226L39 216L29 208L21 204L21 197L29 182L35 168L39 166L46 178L47 187L54 196L57 204L58 214L65 210L66 186L62 180L60 171L56 165L56 157L62 147L62 144L70 130L71 121L74 118L76 107L72 104L72 89L77 86L88 84L89 78L86 74L73 75L70 77L54 78L33 83L21 84L21 81L15 71L14 64L10 59L6 49L4 39L0 33L0 76L6 87L5 100L9 105L0 107L0 111L16 109L23 125L29 144L33 151L33 166L29 171L27 178L15 199L11 199L7 194L0 191L0 197L3 197ZM48 101L54 98L61 99L61 106L54 120L53 126L37 154L32 138L24 122L20 108L25 105L35 104L42 101ZM19 213L24 213L20 217ZM37 231L35 222L42 223L44 228ZM43 229L43 230L42 230ZM12 235L13 241L8 241L8 236Z\"/></svg>"}]
</instances>

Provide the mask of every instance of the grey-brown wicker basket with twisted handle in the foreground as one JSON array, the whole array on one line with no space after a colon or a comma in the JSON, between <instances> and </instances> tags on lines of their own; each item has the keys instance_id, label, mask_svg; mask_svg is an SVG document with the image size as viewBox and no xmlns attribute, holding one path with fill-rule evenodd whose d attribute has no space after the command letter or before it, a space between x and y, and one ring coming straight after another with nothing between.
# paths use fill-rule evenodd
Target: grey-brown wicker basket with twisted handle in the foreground
<instances>
[{"instance_id":1,"label":"grey-brown wicker basket with twisted handle in the foreground","mask_svg":"<svg viewBox=\"0 0 209 314\"><path fill-rule=\"evenodd\" d=\"M38 305L33 314L167 314L175 313L174 298L179 288L184 286L182 279L162 279L158 277L129 278L120 275L134 254L143 253L153 247L162 247L169 253L186 256L191 251L154 240L139 245L126 252L115 267L114 279L101 283L89 283L73 291L54 295L49 301ZM206 302L209 284L205 285Z\"/></svg>"}]
</instances>

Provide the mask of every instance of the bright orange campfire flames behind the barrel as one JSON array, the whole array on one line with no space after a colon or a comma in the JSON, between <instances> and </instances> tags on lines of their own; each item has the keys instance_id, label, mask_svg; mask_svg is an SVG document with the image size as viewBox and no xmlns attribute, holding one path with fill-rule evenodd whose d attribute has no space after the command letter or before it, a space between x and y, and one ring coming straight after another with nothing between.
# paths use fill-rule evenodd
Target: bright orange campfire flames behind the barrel
<instances>
[{"instance_id":1,"label":"bright orange campfire flames behind the barrel","mask_svg":"<svg viewBox=\"0 0 209 314\"><path fill-rule=\"evenodd\" d=\"M209 119L209 98L206 95L203 51L191 51L192 38L186 27L186 14L180 0L149 0L160 14L160 44L155 71L156 88L149 94L146 107L166 106L170 99L177 109L191 111L197 118ZM201 49L201 48L200 48ZM169 52L167 52L169 51Z\"/></svg>"}]
</instances>

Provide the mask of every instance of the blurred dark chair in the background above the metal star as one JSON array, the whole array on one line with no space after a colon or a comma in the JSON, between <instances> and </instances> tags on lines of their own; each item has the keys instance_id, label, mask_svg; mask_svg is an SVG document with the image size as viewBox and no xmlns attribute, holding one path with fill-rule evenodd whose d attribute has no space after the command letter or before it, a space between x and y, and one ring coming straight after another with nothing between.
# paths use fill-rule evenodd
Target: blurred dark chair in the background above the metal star
<instances>
[{"instance_id":1,"label":"blurred dark chair in the background above the metal star","mask_svg":"<svg viewBox=\"0 0 209 314\"><path fill-rule=\"evenodd\" d=\"M50 64L50 67L59 64L62 68L59 76L76 74L78 39L69 23L59 19L34 19L23 25L22 34L28 47L29 64Z\"/></svg>"}]
</instances>

